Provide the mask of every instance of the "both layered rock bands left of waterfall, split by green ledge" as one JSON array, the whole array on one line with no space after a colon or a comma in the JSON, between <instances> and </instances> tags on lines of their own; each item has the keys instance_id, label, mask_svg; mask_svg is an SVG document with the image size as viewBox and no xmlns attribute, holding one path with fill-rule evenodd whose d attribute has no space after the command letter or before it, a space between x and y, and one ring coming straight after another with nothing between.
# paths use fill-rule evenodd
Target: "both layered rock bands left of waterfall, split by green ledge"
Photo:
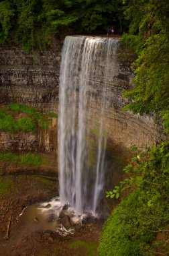
<instances>
[{"instance_id":1,"label":"both layered rock bands left of waterfall, split by green ledge","mask_svg":"<svg viewBox=\"0 0 169 256\"><path fill-rule=\"evenodd\" d=\"M19 102L44 113L58 112L58 88L62 46L53 51L23 53L20 47L0 49L0 104ZM57 121L38 133L0 132L1 152L57 154Z\"/></svg>"}]
</instances>

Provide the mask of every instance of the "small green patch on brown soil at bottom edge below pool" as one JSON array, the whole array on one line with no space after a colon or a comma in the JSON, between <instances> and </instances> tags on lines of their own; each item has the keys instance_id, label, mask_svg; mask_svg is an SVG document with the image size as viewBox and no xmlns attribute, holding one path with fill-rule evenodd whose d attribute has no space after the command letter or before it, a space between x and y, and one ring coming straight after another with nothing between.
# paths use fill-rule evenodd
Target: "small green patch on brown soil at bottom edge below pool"
<instances>
[{"instance_id":1,"label":"small green patch on brown soil at bottom edge below pool","mask_svg":"<svg viewBox=\"0 0 169 256\"><path fill-rule=\"evenodd\" d=\"M83 241L75 241L68 245L68 248L70 249L78 249L79 247L82 247L85 249L86 256L96 256L97 255L97 245L95 243L87 243Z\"/></svg>"}]
</instances>

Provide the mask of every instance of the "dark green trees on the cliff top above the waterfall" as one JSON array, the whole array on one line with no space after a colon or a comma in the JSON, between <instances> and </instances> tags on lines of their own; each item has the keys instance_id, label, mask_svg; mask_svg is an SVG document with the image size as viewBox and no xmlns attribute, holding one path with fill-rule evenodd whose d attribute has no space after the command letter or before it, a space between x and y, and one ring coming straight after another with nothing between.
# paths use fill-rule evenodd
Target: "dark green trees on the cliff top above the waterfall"
<instances>
[{"instance_id":1,"label":"dark green trees on the cliff top above the waterfall","mask_svg":"<svg viewBox=\"0 0 169 256\"><path fill-rule=\"evenodd\" d=\"M126 30L122 0L5 0L0 3L0 45L11 38L25 51L51 36Z\"/></svg>"}]
</instances>

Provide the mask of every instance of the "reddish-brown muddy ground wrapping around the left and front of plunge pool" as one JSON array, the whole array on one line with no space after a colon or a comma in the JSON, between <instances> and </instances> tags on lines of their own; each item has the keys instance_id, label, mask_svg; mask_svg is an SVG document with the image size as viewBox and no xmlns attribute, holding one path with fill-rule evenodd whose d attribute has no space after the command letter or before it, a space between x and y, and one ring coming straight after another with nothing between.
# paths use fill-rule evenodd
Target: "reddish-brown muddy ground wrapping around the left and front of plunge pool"
<instances>
[{"instance_id":1,"label":"reddish-brown muddy ground wrapping around the left and front of plunge pool","mask_svg":"<svg viewBox=\"0 0 169 256\"><path fill-rule=\"evenodd\" d=\"M49 201L58 195L58 179L54 174L1 174L0 185L0 255L97 255L102 225L97 220L86 220L74 234L64 237L52 230L37 230L17 239L11 231L9 240L5 241L9 217L10 230L13 230L26 206Z\"/></svg>"}]
</instances>

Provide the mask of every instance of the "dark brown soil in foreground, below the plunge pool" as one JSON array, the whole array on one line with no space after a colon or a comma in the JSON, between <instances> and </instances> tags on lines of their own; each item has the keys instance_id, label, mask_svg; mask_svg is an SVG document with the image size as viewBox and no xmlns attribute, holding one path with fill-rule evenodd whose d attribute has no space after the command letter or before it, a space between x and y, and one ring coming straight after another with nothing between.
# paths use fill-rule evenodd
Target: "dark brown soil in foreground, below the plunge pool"
<instances>
[{"instance_id":1,"label":"dark brown soil in foreground, below the plunge pool","mask_svg":"<svg viewBox=\"0 0 169 256\"><path fill-rule=\"evenodd\" d=\"M21 241L12 245L3 255L11 256L95 256L97 255L97 245L99 243L99 233L101 225L84 224L83 228L77 230L69 236L60 236L50 230L39 230L24 237ZM79 241L84 245L80 245ZM70 248L74 242L79 243L76 248ZM88 247L93 246L91 253L88 253Z\"/></svg>"}]
</instances>

